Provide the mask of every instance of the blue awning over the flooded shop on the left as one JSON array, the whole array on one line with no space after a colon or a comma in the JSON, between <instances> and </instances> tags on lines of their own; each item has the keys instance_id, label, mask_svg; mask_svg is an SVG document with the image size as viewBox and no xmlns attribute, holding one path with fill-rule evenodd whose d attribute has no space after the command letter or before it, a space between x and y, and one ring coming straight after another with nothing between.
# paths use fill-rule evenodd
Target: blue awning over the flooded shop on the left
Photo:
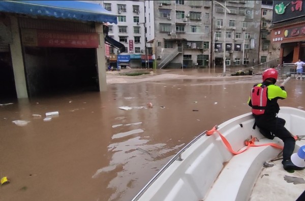
<instances>
[{"instance_id":1,"label":"blue awning over the flooded shop on the left","mask_svg":"<svg viewBox=\"0 0 305 201\"><path fill-rule=\"evenodd\" d=\"M0 1L0 12L117 24L117 15L98 4L78 1Z\"/></svg>"}]
</instances>

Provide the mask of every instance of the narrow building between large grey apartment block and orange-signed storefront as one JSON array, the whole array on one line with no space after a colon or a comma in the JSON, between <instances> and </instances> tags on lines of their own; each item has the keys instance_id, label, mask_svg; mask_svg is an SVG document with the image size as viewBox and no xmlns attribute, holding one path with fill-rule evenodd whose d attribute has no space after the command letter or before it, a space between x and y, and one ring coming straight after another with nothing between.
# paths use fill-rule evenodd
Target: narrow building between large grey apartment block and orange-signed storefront
<instances>
[{"instance_id":1,"label":"narrow building between large grey apartment block and orange-signed storefront","mask_svg":"<svg viewBox=\"0 0 305 201\"><path fill-rule=\"evenodd\" d=\"M273 7L271 5L263 5L261 10L261 29L259 43L259 59L260 63L278 59L280 57L280 44L270 43L270 25L272 21Z\"/></svg>"}]
</instances>

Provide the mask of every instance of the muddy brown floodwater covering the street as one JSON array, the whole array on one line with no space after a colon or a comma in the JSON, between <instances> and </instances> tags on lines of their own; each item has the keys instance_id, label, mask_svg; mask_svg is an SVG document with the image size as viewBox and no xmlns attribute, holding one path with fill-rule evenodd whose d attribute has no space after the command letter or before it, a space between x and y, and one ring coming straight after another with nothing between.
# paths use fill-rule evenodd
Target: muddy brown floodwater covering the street
<instances>
[{"instance_id":1,"label":"muddy brown floodwater covering the street","mask_svg":"<svg viewBox=\"0 0 305 201\"><path fill-rule=\"evenodd\" d=\"M0 176L10 183L1 186L0 200L131 200L201 132L250 112L250 89L261 76L219 73L109 72L107 92L1 103ZM304 87L291 79L280 106L303 110ZM131 109L118 109L123 106ZM54 111L59 115L44 121Z\"/></svg>"}]
</instances>

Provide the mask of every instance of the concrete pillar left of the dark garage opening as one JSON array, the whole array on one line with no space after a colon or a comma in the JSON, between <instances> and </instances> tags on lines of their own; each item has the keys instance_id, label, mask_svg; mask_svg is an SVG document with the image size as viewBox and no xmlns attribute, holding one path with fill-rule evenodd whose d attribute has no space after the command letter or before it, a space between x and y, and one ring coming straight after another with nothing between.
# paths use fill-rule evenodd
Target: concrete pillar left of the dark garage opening
<instances>
[{"instance_id":1,"label":"concrete pillar left of the dark garage opening","mask_svg":"<svg viewBox=\"0 0 305 201\"><path fill-rule=\"evenodd\" d=\"M10 16L13 43L10 44L17 98L27 98L24 63L17 17Z\"/></svg>"}]
</instances>

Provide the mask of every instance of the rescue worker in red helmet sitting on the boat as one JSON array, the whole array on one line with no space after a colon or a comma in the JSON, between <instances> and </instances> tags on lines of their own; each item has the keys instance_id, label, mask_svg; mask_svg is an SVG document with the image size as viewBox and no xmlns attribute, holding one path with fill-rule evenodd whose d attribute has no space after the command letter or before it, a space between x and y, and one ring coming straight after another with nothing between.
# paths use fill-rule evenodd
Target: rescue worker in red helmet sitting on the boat
<instances>
[{"instance_id":1,"label":"rescue worker in red helmet sitting on the boat","mask_svg":"<svg viewBox=\"0 0 305 201\"><path fill-rule=\"evenodd\" d=\"M280 106L278 99L285 99L287 92L284 86L275 85L278 79L276 69L270 68L263 73L263 82L254 85L252 88L248 104L252 107L252 114L255 118L255 125L262 135L268 139L276 137L284 142L283 168L285 170L303 170L291 162L291 155L294 151L295 139L285 128L286 121L277 117ZM254 125L254 128L255 128Z\"/></svg>"}]
</instances>

